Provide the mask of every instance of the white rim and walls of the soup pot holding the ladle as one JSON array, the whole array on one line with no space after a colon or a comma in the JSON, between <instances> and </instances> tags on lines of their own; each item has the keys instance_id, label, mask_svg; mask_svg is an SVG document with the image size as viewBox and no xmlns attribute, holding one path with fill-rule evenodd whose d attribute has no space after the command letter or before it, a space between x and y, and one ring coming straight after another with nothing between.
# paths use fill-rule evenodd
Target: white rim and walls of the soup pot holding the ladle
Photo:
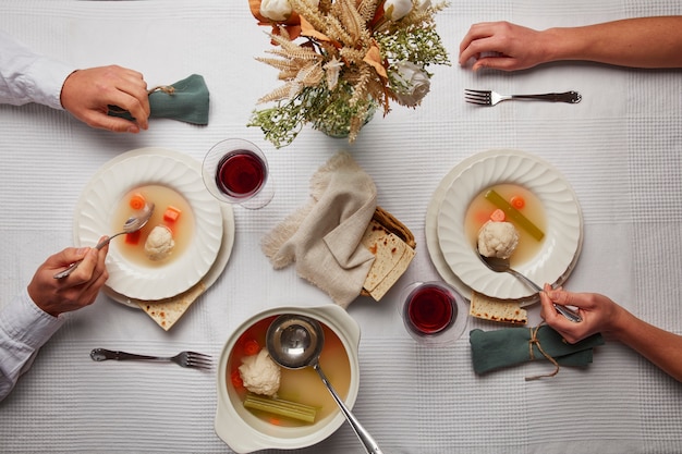
<instances>
[{"instance_id":1,"label":"white rim and walls of the soup pot holding the ladle","mask_svg":"<svg viewBox=\"0 0 682 454\"><path fill-rule=\"evenodd\" d=\"M345 417L336 406L333 401L329 412L321 413L313 424L280 426L261 418L243 405L243 396L232 383L231 375L234 373L234 364L230 363L233 353L244 333L267 319L284 314L293 314L310 317L319 321L326 329L339 339L343 353L339 354L339 360L348 356L350 377L348 392L337 389L343 396L349 408L352 408L360 389L360 363L357 349L360 346L360 326L341 307L329 304L317 307L277 307L256 314L244 321L230 335L222 352L218 365L217 392L218 404L216 409L216 433L236 453L251 453L266 449L294 450L316 444L331 435L341 425ZM336 341L336 340L334 340ZM326 340L329 342L329 340ZM320 357L320 366L325 369L325 354ZM338 353L336 353L338 354ZM332 358L332 361L337 359ZM307 368L315 373L312 368ZM315 373L316 380L324 386L321 380ZM333 378L329 377L334 388ZM325 392L328 394L328 391ZM329 403L325 404L325 406Z\"/></svg>"}]
</instances>

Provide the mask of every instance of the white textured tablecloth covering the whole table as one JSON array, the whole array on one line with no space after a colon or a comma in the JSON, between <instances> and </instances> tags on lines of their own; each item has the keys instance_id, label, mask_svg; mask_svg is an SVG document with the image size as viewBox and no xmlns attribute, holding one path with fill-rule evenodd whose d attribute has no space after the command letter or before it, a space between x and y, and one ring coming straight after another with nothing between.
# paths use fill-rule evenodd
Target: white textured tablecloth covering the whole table
<instances>
[{"instance_id":1,"label":"white textured tablecloth covering the whole table","mask_svg":"<svg viewBox=\"0 0 682 454\"><path fill-rule=\"evenodd\" d=\"M514 74L474 74L456 64L475 22L509 20L544 28L630 16L680 14L672 0L460 0L438 15L452 52L435 68L421 108L377 115L353 146L306 128L275 149L246 127L256 99L278 85L257 62L268 48L246 0L4 0L0 28L37 51L85 68L117 63L149 86L192 73L211 96L210 124L153 120L139 135L88 128L40 106L0 107L0 304L37 266L72 244L74 207L93 172L139 147L202 159L227 137L266 152L277 194L259 211L235 208L236 241L223 275L169 332L105 296L76 314L0 403L1 452L212 452L229 447L214 432L215 377L172 365L94 363L93 347L149 354L191 348L218 355L248 316L278 305L329 298L295 275L275 271L259 240L308 197L313 172L349 149L374 177L379 205L417 240L410 270L382 302L354 302L362 329L362 379L355 414L387 453L682 452L682 385L629 348L609 342L586 370L524 381L549 365L477 377L467 335L441 349L417 346L398 315L401 286L438 274L424 222L434 189L465 157L490 148L537 155L572 183L585 243L567 287L609 295L651 323L682 334L682 73L557 63ZM501 93L574 89L580 105L466 105L464 88ZM538 320L537 307L531 308ZM498 326L470 320L468 328ZM362 452L342 427L302 452Z\"/></svg>"}]
</instances>

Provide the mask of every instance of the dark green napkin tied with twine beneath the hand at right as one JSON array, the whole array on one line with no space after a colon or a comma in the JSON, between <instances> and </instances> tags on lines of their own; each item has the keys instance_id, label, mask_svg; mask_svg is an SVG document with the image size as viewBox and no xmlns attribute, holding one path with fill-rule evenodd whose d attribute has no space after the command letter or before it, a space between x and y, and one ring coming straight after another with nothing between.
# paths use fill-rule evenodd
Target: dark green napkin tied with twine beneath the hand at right
<instances>
[{"instance_id":1,"label":"dark green napkin tied with twine beneath the hand at right","mask_svg":"<svg viewBox=\"0 0 682 454\"><path fill-rule=\"evenodd\" d=\"M575 344L569 344L557 331L543 324L539 328L506 328L495 331L472 330L470 343L476 373L486 373L531 360L549 360L531 339L536 339L543 351L560 366L585 367L592 363L593 348L604 345L601 334L593 334Z\"/></svg>"}]
</instances>

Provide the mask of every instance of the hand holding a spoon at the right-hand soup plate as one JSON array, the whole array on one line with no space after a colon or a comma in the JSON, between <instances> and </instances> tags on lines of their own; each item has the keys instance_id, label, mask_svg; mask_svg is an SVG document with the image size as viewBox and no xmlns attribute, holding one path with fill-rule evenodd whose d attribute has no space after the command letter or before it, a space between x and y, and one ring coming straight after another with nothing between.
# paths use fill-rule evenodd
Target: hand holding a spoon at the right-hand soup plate
<instances>
[{"instance_id":1,"label":"hand holding a spoon at the right-hand soup plate","mask_svg":"<svg viewBox=\"0 0 682 454\"><path fill-rule=\"evenodd\" d=\"M583 321L576 323L568 320L557 312L552 303L576 307ZM622 310L610 298L598 293L552 290L549 284L545 284L544 291L540 292L540 304L543 305L540 317L571 344L598 332L608 332L616 324Z\"/></svg>"}]
</instances>

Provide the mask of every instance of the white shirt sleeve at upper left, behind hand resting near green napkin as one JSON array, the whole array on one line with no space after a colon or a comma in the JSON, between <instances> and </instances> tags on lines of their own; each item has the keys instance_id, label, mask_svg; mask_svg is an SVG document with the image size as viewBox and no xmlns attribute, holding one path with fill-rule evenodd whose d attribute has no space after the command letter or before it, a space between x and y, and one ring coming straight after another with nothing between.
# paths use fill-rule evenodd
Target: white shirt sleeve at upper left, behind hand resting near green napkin
<instances>
[{"instance_id":1,"label":"white shirt sleeve at upper left, behind hand resting near green napkin","mask_svg":"<svg viewBox=\"0 0 682 454\"><path fill-rule=\"evenodd\" d=\"M35 53L0 30L0 102L21 106L37 102L63 109L64 81L76 69Z\"/></svg>"}]
</instances>

